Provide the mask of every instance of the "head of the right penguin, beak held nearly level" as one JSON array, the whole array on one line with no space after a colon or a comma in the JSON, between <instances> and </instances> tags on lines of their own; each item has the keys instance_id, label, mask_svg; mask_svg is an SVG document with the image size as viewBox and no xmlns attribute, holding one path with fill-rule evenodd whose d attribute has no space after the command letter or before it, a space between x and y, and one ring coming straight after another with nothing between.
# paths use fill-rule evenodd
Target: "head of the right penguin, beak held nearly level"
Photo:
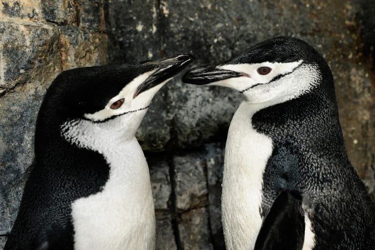
<instances>
[{"instance_id":1,"label":"head of the right penguin, beak held nearly level","mask_svg":"<svg viewBox=\"0 0 375 250\"><path fill-rule=\"evenodd\" d=\"M233 60L189 70L185 83L219 85L245 95L248 103L278 103L296 98L317 86L331 71L309 44L277 37L250 47Z\"/></svg>"}]
</instances>

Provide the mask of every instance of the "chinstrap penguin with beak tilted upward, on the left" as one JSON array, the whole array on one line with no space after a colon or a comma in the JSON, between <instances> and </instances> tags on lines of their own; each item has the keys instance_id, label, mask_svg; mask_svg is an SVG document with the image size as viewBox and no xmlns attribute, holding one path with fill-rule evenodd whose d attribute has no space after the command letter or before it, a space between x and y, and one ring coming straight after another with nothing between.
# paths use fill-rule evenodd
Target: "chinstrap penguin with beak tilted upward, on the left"
<instances>
[{"instance_id":1,"label":"chinstrap penguin with beak tilted upward, on the left","mask_svg":"<svg viewBox=\"0 0 375 250\"><path fill-rule=\"evenodd\" d=\"M5 250L155 249L149 171L135 133L153 96L191 61L76 68L53 81Z\"/></svg>"}]
</instances>

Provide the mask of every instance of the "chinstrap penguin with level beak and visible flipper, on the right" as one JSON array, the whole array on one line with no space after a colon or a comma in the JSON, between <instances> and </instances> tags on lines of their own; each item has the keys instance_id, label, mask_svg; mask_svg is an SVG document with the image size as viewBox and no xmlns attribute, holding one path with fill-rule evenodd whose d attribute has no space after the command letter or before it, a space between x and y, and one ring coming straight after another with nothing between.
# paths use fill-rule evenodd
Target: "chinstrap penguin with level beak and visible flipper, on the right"
<instances>
[{"instance_id":1,"label":"chinstrap penguin with level beak and visible flipper, on the right","mask_svg":"<svg viewBox=\"0 0 375 250\"><path fill-rule=\"evenodd\" d=\"M333 76L315 49L277 37L183 81L245 96L225 152L228 250L375 249L374 203L348 159Z\"/></svg>"}]
</instances>

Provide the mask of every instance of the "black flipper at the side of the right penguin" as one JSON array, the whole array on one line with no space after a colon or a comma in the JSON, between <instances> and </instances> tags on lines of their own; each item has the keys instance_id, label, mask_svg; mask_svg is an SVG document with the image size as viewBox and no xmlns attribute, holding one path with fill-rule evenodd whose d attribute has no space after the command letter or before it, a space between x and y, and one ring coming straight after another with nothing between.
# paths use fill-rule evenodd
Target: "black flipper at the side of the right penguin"
<instances>
[{"instance_id":1,"label":"black flipper at the side of the right penguin","mask_svg":"<svg viewBox=\"0 0 375 250\"><path fill-rule=\"evenodd\" d=\"M254 250L301 250L304 236L301 197L282 191L263 220Z\"/></svg>"}]
</instances>

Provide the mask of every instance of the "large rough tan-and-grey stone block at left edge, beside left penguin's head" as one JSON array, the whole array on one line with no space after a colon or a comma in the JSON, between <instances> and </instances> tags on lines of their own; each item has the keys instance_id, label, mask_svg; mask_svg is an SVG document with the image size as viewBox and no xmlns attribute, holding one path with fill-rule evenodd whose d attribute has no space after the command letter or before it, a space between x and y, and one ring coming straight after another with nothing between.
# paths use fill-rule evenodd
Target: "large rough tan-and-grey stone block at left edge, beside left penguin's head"
<instances>
[{"instance_id":1,"label":"large rough tan-and-grey stone block at left edge, beside left penguin's head","mask_svg":"<svg viewBox=\"0 0 375 250\"><path fill-rule=\"evenodd\" d=\"M0 21L0 91L61 71L59 32L50 24ZM38 76L38 77L37 77Z\"/></svg>"}]
</instances>

